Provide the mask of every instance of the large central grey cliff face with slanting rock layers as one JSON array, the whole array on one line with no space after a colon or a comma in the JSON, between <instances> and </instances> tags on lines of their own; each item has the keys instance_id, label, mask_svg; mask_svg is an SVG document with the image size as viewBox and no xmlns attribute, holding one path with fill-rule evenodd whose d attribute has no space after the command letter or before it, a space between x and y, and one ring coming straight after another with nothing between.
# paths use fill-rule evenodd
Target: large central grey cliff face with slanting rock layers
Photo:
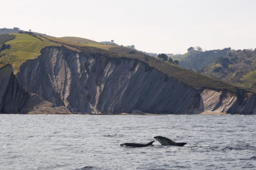
<instances>
[{"instance_id":1,"label":"large central grey cliff face with slanting rock layers","mask_svg":"<svg viewBox=\"0 0 256 170\"><path fill-rule=\"evenodd\" d=\"M18 81L55 107L89 113L191 113L199 93L146 63L47 47L24 63Z\"/></svg>"}]
</instances>

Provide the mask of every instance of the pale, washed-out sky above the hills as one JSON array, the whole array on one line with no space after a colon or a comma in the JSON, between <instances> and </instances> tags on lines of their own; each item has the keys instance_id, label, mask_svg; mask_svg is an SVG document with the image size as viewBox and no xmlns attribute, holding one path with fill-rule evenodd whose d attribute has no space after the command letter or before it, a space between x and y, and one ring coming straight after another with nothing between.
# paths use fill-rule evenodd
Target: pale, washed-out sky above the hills
<instances>
[{"instance_id":1,"label":"pale, washed-out sky above the hills","mask_svg":"<svg viewBox=\"0 0 256 170\"><path fill-rule=\"evenodd\" d=\"M0 0L0 4L0 28L114 40L150 53L186 53L195 46L256 48L256 0Z\"/></svg>"}]
</instances>

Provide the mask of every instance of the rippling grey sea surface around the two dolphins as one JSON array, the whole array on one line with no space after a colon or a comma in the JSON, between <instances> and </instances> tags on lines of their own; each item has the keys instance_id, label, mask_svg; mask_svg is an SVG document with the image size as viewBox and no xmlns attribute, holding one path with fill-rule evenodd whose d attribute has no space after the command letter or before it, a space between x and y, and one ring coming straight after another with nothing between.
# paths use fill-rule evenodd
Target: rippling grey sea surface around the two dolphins
<instances>
[{"instance_id":1,"label":"rippling grey sea surface around the two dolphins","mask_svg":"<svg viewBox=\"0 0 256 170\"><path fill-rule=\"evenodd\" d=\"M256 169L256 115L0 115L0 170L98 169Z\"/></svg>"}]
</instances>

